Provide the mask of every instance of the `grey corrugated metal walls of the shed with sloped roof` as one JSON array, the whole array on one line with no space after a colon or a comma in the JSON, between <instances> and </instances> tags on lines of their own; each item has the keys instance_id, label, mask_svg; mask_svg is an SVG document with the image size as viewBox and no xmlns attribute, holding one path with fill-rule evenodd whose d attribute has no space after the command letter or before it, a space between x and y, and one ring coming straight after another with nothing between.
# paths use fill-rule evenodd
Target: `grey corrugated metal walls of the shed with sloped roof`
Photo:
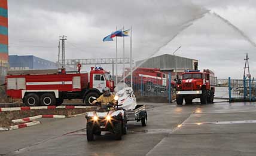
<instances>
[{"instance_id":1,"label":"grey corrugated metal walls of the shed with sloped roof","mask_svg":"<svg viewBox=\"0 0 256 156\"><path fill-rule=\"evenodd\" d=\"M136 62L136 66L138 66L142 61ZM188 59L185 57L176 56L176 65L177 69L193 69L193 61L194 59ZM175 68L175 56L170 54L164 54L161 56L156 56L148 59L145 63L143 63L141 68L160 68L160 69L174 69Z\"/></svg>"}]
</instances>

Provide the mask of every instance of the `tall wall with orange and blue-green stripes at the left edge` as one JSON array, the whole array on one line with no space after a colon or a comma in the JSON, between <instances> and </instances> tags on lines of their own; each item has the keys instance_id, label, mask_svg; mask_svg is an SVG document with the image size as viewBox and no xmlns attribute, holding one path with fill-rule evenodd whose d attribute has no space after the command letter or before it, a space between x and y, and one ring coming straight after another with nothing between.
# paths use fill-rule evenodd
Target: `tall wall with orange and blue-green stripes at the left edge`
<instances>
[{"instance_id":1,"label":"tall wall with orange and blue-green stripes at the left edge","mask_svg":"<svg viewBox=\"0 0 256 156\"><path fill-rule=\"evenodd\" d=\"M0 83L8 68L8 6L7 0L0 0Z\"/></svg>"}]
</instances>

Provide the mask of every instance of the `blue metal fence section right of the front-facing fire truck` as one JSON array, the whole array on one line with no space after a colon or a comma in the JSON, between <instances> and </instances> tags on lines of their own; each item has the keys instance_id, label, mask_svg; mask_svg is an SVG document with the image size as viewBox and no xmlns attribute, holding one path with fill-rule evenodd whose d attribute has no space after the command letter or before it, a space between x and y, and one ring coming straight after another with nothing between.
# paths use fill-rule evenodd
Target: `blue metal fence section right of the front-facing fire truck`
<instances>
[{"instance_id":1,"label":"blue metal fence section right of the front-facing fire truck","mask_svg":"<svg viewBox=\"0 0 256 156\"><path fill-rule=\"evenodd\" d=\"M230 102L255 101L256 80L253 78L228 78L228 92Z\"/></svg>"}]
</instances>

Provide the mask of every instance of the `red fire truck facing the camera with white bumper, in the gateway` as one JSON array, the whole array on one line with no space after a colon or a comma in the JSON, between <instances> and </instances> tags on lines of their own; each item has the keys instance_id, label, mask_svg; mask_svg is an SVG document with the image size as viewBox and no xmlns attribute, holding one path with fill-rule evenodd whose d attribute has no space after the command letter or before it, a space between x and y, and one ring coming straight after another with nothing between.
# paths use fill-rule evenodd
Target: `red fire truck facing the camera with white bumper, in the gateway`
<instances>
[{"instance_id":1,"label":"red fire truck facing the camera with white bumper, in the gateway","mask_svg":"<svg viewBox=\"0 0 256 156\"><path fill-rule=\"evenodd\" d=\"M182 73L176 85L176 103L182 105L192 103L193 99L200 98L202 104L214 102L215 79L214 72L209 69L200 71L186 71Z\"/></svg>"}]
</instances>

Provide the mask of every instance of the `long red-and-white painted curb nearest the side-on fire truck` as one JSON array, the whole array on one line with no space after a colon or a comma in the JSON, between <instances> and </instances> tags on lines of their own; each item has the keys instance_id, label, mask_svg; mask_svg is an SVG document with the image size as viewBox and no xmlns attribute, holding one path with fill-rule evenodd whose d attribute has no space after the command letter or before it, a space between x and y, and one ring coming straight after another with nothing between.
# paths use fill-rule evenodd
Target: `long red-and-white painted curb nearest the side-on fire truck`
<instances>
[{"instance_id":1,"label":"long red-and-white painted curb nearest the side-on fire truck","mask_svg":"<svg viewBox=\"0 0 256 156\"><path fill-rule=\"evenodd\" d=\"M35 107L13 107L13 108L0 108L0 112L6 111L29 111L33 109L86 109L86 108L98 108L96 106L35 106Z\"/></svg>"}]
</instances>

